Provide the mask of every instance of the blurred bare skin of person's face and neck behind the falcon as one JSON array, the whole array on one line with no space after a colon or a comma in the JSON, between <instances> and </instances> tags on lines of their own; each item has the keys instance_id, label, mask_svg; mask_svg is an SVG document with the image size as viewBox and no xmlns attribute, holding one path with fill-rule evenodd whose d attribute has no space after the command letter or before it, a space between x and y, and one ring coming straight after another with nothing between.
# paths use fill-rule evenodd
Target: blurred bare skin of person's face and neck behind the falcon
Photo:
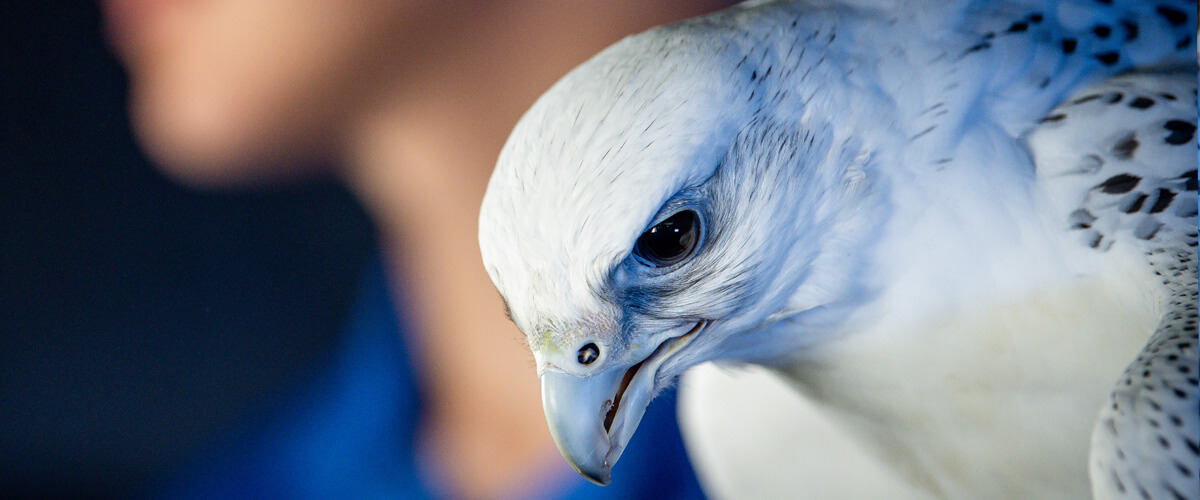
<instances>
[{"instance_id":1,"label":"blurred bare skin of person's face and neck behind the falcon","mask_svg":"<svg viewBox=\"0 0 1200 500\"><path fill-rule=\"evenodd\" d=\"M113 0L140 141L200 186L337 165L415 307L431 394L424 448L455 498L572 474L533 360L482 266L479 201L509 131L554 80L620 37L713 5L622 0ZM322 173L324 174L324 173Z\"/></svg>"}]
</instances>

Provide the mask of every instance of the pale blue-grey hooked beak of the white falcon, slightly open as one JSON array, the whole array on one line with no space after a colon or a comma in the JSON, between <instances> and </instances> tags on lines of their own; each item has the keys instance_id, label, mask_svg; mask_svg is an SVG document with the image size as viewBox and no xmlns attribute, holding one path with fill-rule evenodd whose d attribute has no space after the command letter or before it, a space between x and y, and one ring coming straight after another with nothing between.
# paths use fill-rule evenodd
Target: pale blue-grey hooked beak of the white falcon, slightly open
<instances>
[{"instance_id":1,"label":"pale blue-grey hooked beak of the white falcon, slightly open","mask_svg":"<svg viewBox=\"0 0 1200 500\"><path fill-rule=\"evenodd\" d=\"M686 345L707 321L660 344L646 360L578 376L554 367L541 373L541 402L550 434L566 463L600 486L625 451L655 393L659 367Z\"/></svg>"}]
</instances>

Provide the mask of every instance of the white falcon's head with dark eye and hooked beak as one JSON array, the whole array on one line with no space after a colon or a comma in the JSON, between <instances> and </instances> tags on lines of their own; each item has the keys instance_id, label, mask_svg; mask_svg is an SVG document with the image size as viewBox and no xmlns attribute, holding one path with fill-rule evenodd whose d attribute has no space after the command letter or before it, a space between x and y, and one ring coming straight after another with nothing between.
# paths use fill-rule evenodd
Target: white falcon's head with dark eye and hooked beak
<instances>
[{"instance_id":1,"label":"white falcon's head with dark eye and hooked beak","mask_svg":"<svg viewBox=\"0 0 1200 500\"><path fill-rule=\"evenodd\" d=\"M551 433L599 484L684 369L785 357L821 327L780 330L854 295L869 155L798 106L774 110L769 54L689 32L626 38L556 84L481 207Z\"/></svg>"}]
</instances>

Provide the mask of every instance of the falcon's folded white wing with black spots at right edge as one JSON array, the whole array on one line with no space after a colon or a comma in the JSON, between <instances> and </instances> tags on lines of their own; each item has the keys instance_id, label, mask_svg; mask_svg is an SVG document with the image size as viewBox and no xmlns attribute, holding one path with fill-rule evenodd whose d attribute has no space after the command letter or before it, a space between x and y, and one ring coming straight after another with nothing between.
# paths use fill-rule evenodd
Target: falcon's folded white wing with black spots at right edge
<instances>
[{"instance_id":1,"label":"falcon's folded white wing with black spots at right edge","mask_svg":"<svg viewBox=\"0 0 1200 500\"><path fill-rule=\"evenodd\" d=\"M1166 296L1093 430L1098 499L1198 493L1195 96L1194 68L1123 74L1068 98L1028 139L1064 225L1097 252L1138 248Z\"/></svg>"}]
</instances>

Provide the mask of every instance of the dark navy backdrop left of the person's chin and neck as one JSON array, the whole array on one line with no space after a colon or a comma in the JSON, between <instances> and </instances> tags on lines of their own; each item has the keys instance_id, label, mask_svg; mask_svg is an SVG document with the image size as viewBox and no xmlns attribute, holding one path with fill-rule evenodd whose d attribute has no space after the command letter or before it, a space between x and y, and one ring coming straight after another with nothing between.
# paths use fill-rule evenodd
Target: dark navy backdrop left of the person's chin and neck
<instances>
[{"instance_id":1,"label":"dark navy backdrop left of the person's chin and neck","mask_svg":"<svg viewBox=\"0 0 1200 500\"><path fill-rule=\"evenodd\" d=\"M168 182L97 7L0 11L0 492L138 495L326 361L374 236L334 182Z\"/></svg>"}]
</instances>

